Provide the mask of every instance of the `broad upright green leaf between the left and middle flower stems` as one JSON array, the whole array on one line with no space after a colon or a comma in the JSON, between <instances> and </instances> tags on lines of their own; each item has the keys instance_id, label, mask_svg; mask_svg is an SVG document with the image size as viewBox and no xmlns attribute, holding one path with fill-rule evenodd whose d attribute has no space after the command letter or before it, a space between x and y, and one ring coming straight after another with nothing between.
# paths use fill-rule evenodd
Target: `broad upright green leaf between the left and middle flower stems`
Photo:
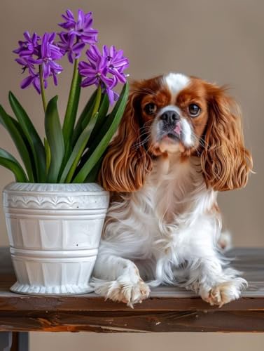
<instances>
[{"instance_id":1,"label":"broad upright green leaf between the left and middle flower stems","mask_svg":"<svg viewBox=\"0 0 264 351\"><path fill-rule=\"evenodd\" d=\"M50 167L48 183L57 183L57 178L64 157L64 140L59 114L57 112L57 96L48 102L45 115L45 131L50 146Z\"/></svg>"}]
</instances>

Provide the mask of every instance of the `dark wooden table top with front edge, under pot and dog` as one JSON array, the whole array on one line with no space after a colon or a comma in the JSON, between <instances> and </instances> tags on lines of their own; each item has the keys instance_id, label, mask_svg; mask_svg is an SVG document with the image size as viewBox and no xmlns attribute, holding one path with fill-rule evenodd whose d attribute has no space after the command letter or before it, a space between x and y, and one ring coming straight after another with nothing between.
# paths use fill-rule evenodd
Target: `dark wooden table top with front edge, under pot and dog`
<instances>
[{"instance_id":1,"label":"dark wooden table top with front edge, under pot and dog","mask_svg":"<svg viewBox=\"0 0 264 351\"><path fill-rule=\"evenodd\" d=\"M153 289L134 305L113 303L95 293L29 296L9 291L15 282L11 256L0 249L0 331L264 331L264 248L232 249L232 266L249 288L221 308L176 286Z\"/></svg>"}]
</instances>

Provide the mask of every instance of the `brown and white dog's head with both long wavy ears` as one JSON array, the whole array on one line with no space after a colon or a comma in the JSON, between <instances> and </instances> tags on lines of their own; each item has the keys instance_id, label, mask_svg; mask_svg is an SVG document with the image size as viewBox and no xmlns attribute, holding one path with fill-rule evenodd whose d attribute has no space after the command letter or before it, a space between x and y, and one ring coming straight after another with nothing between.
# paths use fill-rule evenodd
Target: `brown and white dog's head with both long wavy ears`
<instances>
[{"instance_id":1,"label":"brown and white dog's head with both long wavy ears","mask_svg":"<svg viewBox=\"0 0 264 351\"><path fill-rule=\"evenodd\" d=\"M207 187L214 190L244 187L252 168L239 109L225 88L174 73L136 81L100 183L114 192L139 190L153 158L176 152L183 160L200 157Z\"/></svg>"}]
</instances>

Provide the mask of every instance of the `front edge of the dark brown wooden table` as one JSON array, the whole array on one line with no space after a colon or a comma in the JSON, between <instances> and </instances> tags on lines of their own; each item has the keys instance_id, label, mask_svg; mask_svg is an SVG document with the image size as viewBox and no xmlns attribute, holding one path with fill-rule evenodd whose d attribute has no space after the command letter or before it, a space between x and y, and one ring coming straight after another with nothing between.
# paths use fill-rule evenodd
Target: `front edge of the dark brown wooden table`
<instances>
[{"instance_id":1,"label":"front edge of the dark brown wooden table","mask_svg":"<svg viewBox=\"0 0 264 351\"><path fill-rule=\"evenodd\" d=\"M0 315L5 331L263 332L264 314L259 311L149 312L27 312Z\"/></svg>"}]
</instances>

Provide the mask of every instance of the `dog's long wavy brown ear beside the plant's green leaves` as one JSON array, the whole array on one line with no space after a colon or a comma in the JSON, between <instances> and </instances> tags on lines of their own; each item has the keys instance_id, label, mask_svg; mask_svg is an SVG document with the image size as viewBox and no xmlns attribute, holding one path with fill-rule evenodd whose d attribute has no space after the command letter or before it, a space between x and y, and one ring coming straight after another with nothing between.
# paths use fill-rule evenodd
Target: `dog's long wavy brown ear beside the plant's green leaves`
<instances>
[{"instance_id":1,"label":"dog's long wavy brown ear beside the plant's green leaves","mask_svg":"<svg viewBox=\"0 0 264 351\"><path fill-rule=\"evenodd\" d=\"M136 88L134 84L118 133L109 145L99 173L99 183L112 192L139 190L152 168L151 156L140 143L140 93Z\"/></svg>"}]
</instances>

